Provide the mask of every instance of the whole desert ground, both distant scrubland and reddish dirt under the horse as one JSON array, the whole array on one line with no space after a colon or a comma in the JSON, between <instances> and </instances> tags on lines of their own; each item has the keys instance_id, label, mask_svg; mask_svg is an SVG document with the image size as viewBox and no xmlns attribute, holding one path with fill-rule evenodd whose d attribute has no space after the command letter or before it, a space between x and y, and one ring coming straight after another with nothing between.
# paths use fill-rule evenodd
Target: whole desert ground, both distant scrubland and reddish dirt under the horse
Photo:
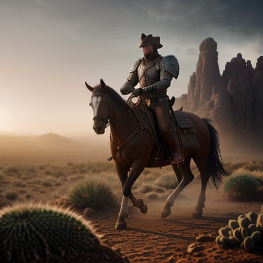
<instances>
[{"instance_id":1,"label":"whole desert ground, both distant scrubland and reddish dirt under the horse","mask_svg":"<svg viewBox=\"0 0 263 263\"><path fill-rule=\"evenodd\" d=\"M3 155L0 159L0 197L12 203L54 202L64 196L76 178L98 177L112 185L118 202L122 197L121 184L115 172L113 161L89 162L85 155ZM223 157L227 168L247 165L251 170L263 170L263 157ZM129 204L127 229L116 231L119 205L112 208L95 209L85 213L85 208L76 209L91 221L97 233L103 235L103 242L121 251L130 262L263 262L260 254L243 250L224 250L214 241L195 243L195 250L187 248L200 234L211 234L226 226L229 219L236 219L242 213L260 212L262 201L231 201L223 196L222 187L216 191L208 185L205 208L200 219L193 219L200 191L200 178L196 166L191 164L195 179L178 196L172 214L161 219L160 213L165 198L171 193L164 187L154 186L159 177L173 174L172 168L146 168L133 187L136 197L143 198L148 205L147 214ZM234 256L233 256L234 255Z\"/></svg>"}]
</instances>

